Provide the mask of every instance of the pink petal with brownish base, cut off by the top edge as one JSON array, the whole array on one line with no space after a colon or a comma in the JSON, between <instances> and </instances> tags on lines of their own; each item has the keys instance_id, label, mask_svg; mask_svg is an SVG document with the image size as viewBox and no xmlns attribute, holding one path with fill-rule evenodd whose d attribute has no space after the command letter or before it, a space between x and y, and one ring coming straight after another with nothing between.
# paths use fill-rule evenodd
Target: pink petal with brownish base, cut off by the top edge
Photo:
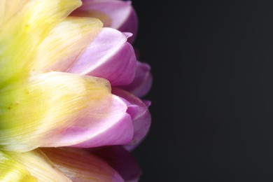
<instances>
[{"instance_id":1,"label":"pink petal with brownish base, cut off by the top edge","mask_svg":"<svg viewBox=\"0 0 273 182\"><path fill-rule=\"evenodd\" d=\"M83 1L83 6L80 6L72 15L98 18L102 20L105 27L131 32L133 36L130 42L134 41L137 35L137 14L132 8L131 1Z\"/></svg>"}]
</instances>

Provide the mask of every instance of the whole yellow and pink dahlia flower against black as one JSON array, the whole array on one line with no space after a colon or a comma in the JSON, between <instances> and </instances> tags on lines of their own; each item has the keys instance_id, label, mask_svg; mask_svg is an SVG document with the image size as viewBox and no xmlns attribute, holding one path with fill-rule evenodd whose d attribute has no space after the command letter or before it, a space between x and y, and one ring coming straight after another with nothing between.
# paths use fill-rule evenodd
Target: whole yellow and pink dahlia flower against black
<instances>
[{"instance_id":1,"label":"whole yellow and pink dahlia flower against black","mask_svg":"<svg viewBox=\"0 0 273 182\"><path fill-rule=\"evenodd\" d=\"M0 0L0 181L137 181L151 125L130 1Z\"/></svg>"}]
</instances>

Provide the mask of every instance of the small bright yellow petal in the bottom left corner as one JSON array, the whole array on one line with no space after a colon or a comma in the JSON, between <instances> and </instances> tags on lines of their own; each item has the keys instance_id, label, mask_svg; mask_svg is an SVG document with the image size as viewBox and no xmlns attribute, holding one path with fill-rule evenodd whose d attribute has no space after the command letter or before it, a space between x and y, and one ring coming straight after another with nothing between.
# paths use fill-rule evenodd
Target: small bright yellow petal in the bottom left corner
<instances>
[{"instance_id":1,"label":"small bright yellow petal in the bottom left corner","mask_svg":"<svg viewBox=\"0 0 273 182\"><path fill-rule=\"evenodd\" d=\"M31 176L25 166L14 160L0 151L0 181L14 182L14 181L37 181L34 176Z\"/></svg>"}]
</instances>

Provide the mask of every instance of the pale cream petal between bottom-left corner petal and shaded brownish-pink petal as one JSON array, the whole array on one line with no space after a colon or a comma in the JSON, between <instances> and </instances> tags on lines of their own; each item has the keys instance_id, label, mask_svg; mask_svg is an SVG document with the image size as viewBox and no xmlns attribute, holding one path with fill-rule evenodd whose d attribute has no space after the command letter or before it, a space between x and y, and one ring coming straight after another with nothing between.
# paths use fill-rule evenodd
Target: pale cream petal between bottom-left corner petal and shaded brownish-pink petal
<instances>
[{"instance_id":1,"label":"pale cream petal between bottom-left corner petal and shaded brownish-pink petal","mask_svg":"<svg viewBox=\"0 0 273 182\"><path fill-rule=\"evenodd\" d=\"M26 153L7 153L23 165L37 181L71 181L39 149Z\"/></svg>"}]
</instances>

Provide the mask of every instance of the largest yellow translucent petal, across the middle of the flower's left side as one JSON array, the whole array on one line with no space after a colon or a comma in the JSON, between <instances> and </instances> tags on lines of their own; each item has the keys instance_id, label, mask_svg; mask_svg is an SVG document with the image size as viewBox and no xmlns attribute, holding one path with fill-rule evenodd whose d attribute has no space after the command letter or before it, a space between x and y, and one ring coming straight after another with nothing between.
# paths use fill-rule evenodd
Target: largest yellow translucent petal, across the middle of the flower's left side
<instances>
[{"instance_id":1,"label":"largest yellow translucent petal, across the middle of the flower's left side","mask_svg":"<svg viewBox=\"0 0 273 182\"><path fill-rule=\"evenodd\" d=\"M9 151L29 151L94 109L111 95L102 78L50 72L24 85L2 90L0 145Z\"/></svg>"}]
</instances>

